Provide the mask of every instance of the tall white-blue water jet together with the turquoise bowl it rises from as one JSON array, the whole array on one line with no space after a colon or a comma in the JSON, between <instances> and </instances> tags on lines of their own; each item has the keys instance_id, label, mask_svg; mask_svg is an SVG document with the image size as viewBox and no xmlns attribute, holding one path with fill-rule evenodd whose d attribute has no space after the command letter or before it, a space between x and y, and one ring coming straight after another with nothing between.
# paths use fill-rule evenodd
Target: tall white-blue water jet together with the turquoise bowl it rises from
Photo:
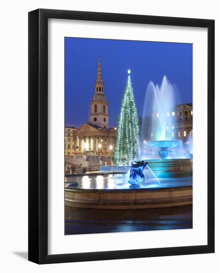
<instances>
[{"instance_id":1,"label":"tall white-blue water jet together with the turquoise bowl it rises from","mask_svg":"<svg viewBox=\"0 0 220 273\"><path fill-rule=\"evenodd\" d=\"M172 150L168 148L174 148L180 144L179 140L175 140L174 131L174 109L177 100L177 88L167 80L166 76L163 77L160 87L158 84L155 86L152 81L149 82L143 109L141 141L150 147L159 148L156 153L161 159L173 157ZM151 112L149 112L150 109ZM148 123L145 122L147 119ZM148 132L147 137L146 132Z\"/></svg>"}]
</instances>

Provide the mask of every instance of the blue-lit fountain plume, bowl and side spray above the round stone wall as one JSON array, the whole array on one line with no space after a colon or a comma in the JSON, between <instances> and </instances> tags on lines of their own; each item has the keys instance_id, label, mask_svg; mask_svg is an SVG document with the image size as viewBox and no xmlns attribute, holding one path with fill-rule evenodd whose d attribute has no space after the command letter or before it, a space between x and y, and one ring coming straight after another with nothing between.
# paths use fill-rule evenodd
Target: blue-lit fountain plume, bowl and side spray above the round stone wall
<instances>
[{"instance_id":1,"label":"blue-lit fountain plume, bowl and side spray above the round stone wall","mask_svg":"<svg viewBox=\"0 0 220 273\"><path fill-rule=\"evenodd\" d=\"M148 83L141 128L142 159L191 157L176 136L175 105L179 103L178 89L166 76L160 86L152 81Z\"/></svg>"}]
</instances>

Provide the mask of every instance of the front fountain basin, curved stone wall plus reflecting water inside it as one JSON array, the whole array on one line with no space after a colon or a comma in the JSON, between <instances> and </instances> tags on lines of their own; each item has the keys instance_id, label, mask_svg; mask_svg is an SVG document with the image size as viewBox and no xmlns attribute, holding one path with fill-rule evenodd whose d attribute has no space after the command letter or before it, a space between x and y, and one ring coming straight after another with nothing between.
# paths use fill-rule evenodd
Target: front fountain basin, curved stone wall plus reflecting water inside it
<instances>
[{"instance_id":1,"label":"front fountain basin, curved stone wall plus reflecting water inside it","mask_svg":"<svg viewBox=\"0 0 220 273\"><path fill-rule=\"evenodd\" d=\"M100 209L141 209L192 204L192 177L147 179L138 188L127 182L126 174L68 177L65 204Z\"/></svg>"}]
</instances>

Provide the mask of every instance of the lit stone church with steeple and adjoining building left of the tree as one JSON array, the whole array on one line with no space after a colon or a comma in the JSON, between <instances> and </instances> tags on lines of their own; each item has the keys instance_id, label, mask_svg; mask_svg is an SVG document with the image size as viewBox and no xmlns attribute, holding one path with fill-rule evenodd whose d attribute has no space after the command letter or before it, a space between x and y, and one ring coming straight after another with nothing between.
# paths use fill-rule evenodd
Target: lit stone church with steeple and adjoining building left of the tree
<instances>
[{"instance_id":1,"label":"lit stone church with steeple and adjoining building left of the tree","mask_svg":"<svg viewBox=\"0 0 220 273\"><path fill-rule=\"evenodd\" d=\"M70 128L70 142L69 136L66 136L69 128L65 128L66 155L112 155L116 128L109 128L108 101L104 92L100 58L90 109L89 122L77 129Z\"/></svg>"}]
</instances>

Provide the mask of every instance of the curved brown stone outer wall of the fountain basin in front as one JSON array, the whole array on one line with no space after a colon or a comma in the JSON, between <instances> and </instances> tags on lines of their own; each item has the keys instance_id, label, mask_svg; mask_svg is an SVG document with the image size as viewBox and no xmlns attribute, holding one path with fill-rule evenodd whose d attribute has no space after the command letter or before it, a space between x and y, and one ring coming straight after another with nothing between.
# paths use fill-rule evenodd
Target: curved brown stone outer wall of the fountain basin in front
<instances>
[{"instance_id":1,"label":"curved brown stone outer wall of the fountain basin in front","mask_svg":"<svg viewBox=\"0 0 220 273\"><path fill-rule=\"evenodd\" d=\"M141 209L192 204L192 186L159 189L65 189L65 204L99 209Z\"/></svg>"}]
</instances>

